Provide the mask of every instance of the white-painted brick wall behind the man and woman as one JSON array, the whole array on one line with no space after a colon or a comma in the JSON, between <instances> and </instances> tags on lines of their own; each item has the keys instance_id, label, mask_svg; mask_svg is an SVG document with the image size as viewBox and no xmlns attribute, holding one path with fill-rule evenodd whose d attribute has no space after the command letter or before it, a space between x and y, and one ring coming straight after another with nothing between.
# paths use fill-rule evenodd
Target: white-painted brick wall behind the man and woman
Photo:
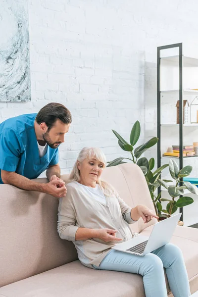
<instances>
[{"instance_id":1,"label":"white-painted brick wall behind the man and woman","mask_svg":"<svg viewBox=\"0 0 198 297\"><path fill-rule=\"evenodd\" d=\"M139 120L140 144L156 135L156 47L197 51L197 10L196 0L29 0L32 101L0 103L0 121L60 102L73 114L63 172L84 146L127 156L111 129L128 139Z\"/></svg>"}]
</instances>

